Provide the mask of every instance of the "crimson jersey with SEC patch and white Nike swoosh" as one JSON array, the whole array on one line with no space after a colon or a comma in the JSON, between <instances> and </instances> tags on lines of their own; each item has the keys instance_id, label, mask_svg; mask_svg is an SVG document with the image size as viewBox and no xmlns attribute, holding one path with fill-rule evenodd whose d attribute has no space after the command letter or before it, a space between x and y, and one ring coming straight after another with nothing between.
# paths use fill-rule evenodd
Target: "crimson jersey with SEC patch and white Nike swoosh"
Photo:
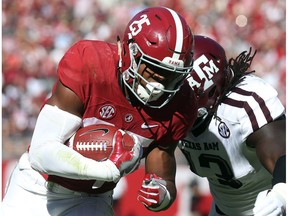
<instances>
[{"instance_id":1,"label":"crimson jersey with SEC patch and white Nike swoosh","mask_svg":"<svg viewBox=\"0 0 288 216\"><path fill-rule=\"evenodd\" d=\"M92 40L77 42L61 59L58 76L84 104L83 127L110 123L130 131L138 136L144 153L154 143L176 145L186 136L197 114L196 99L188 83L161 109L132 106L119 84L118 61L116 45ZM57 177L49 180L55 182Z\"/></svg>"}]
</instances>

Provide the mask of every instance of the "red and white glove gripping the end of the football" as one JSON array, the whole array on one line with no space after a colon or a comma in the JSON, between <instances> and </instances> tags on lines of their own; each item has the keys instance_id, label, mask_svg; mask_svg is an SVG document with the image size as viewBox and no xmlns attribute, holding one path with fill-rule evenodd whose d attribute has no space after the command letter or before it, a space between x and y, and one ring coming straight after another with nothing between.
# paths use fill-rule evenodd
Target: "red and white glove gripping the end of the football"
<instances>
[{"instance_id":1,"label":"red and white glove gripping the end of the football","mask_svg":"<svg viewBox=\"0 0 288 216\"><path fill-rule=\"evenodd\" d=\"M132 150L128 151L123 146L123 135L125 132L123 130L118 130L116 132L115 146L112 155L109 159L117 166L120 171L121 176L128 175L135 171L142 158L143 148L140 144L137 136L129 134L134 140L134 147Z\"/></svg>"}]
</instances>

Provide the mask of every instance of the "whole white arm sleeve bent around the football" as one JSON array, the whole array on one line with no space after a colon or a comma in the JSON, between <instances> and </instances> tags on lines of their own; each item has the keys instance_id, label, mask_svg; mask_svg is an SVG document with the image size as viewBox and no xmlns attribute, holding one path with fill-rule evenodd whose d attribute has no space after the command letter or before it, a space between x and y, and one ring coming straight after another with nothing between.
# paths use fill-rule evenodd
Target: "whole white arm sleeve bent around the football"
<instances>
[{"instance_id":1,"label":"whole white arm sleeve bent around the football","mask_svg":"<svg viewBox=\"0 0 288 216\"><path fill-rule=\"evenodd\" d=\"M80 125L79 117L45 105L38 116L29 150L32 168L73 179L118 179L119 170L110 160L94 161L63 144Z\"/></svg>"}]
</instances>

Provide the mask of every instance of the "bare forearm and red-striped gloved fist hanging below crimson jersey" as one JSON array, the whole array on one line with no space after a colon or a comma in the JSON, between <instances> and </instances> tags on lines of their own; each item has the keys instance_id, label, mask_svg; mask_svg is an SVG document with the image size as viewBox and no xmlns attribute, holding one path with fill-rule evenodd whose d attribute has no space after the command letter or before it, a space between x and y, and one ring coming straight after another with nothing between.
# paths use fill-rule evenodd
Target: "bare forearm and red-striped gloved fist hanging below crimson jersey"
<instances>
[{"instance_id":1,"label":"bare forearm and red-striped gloved fist hanging below crimson jersey","mask_svg":"<svg viewBox=\"0 0 288 216\"><path fill-rule=\"evenodd\" d=\"M154 148L146 158L145 171L138 200L151 211L168 209L176 198L174 153Z\"/></svg>"}]
</instances>

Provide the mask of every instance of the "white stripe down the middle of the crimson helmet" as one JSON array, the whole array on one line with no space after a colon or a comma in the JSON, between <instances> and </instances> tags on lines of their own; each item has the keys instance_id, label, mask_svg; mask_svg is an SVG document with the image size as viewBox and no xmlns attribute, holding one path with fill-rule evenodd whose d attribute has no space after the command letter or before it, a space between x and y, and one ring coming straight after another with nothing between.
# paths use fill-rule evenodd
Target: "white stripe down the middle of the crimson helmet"
<instances>
[{"instance_id":1,"label":"white stripe down the middle of the crimson helmet","mask_svg":"<svg viewBox=\"0 0 288 216\"><path fill-rule=\"evenodd\" d=\"M175 21L175 27L176 27L176 44L175 44L174 51L176 51L177 53L174 52L172 58L179 60L180 58L179 53L181 53L182 46L183 46L183 26L182 26L179 15L174 10L171 10L170 8L167 8L167 9L170 11Z\"/></svg>"}]
</instances>

